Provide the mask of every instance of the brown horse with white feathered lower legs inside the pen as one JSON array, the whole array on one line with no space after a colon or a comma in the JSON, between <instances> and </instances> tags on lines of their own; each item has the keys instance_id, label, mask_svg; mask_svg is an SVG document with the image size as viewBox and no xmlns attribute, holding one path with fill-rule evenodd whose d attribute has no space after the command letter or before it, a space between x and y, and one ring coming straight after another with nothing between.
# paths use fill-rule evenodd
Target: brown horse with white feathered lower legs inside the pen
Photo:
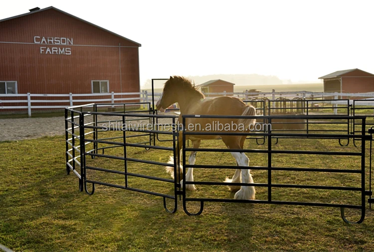
<instances>
[{"instance_id":1,"label":"brown horse with white feathered lower legs inside the pen","mask_svg":"<svg viewBox=\"0 0 374 252\"><path fill-rule=\"evenodd\" d=\"M182 115L256 115L256 109L250 105L246 105L241 100L234 97L217 97L214 99L205 99L205 96L197 91L197 88L185 77L174 76L166 81L163 93L156 107L159 111L165 112L165 108L178 103L181 109L179 122L182 123ZM249 125L255 123L255 119L220 119L219 123L226 125L237 125L241 131L247 130ZM212 118L186 118L186 125L213 125ZM241 126L241 127L240 127ZM199 130L200 131L200 130ZM241 132L236 130L236 132ZM230 132L235 132L230 130ZM221 138L229 149L243 149L246 136L238 135L186 135L186 140L191 140L193 148L198 148L202 139ZM179 137L179 152L182 148L182 133ZM243 152L231 152L239 166L248 166L249 159ZM196 152L193 151L188 163L194 165ZM174 178L174 169L167 167L167 171ZM181 180L182 171L178 179ZM186 181L193 181L193 168L188 168ZM253 183L253 179L248 169L236 169L232 179L226 177L225 182L228 183ZM255 189L253 186L229 186L230 190L235 192L234 199L254 200ZM186 185L187 190L196 190L194 185ZM240 189L240 190L239 190Z\"/></svg>"}]
</instances>

